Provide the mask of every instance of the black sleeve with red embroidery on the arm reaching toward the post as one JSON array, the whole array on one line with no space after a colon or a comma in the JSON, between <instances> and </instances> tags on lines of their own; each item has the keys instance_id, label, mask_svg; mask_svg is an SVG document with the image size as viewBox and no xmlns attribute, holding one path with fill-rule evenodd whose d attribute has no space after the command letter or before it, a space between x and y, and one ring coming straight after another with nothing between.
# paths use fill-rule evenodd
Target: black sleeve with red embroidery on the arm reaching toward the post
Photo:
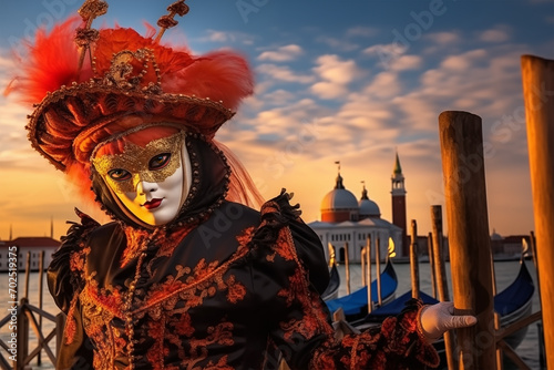
<instances>
[{"instance_id":1,"label":"black sleeve with red embroidery on the arm reaching toward the post","mask_svg":"<svg viewBox=\"0 0 554 370\"><path fill-rule=\"evenodd\" d=\"M271 318L271 340L288 366L317 370L437 367L437 351L418 331L419 301L378 328L335 339L330 312L320 298L329 279L324 248L289 198L283 192L264 205L253 237L255 260L264 271L256 275L255 287L261 291L261 309Z\"/></svg>"}]
</instances>

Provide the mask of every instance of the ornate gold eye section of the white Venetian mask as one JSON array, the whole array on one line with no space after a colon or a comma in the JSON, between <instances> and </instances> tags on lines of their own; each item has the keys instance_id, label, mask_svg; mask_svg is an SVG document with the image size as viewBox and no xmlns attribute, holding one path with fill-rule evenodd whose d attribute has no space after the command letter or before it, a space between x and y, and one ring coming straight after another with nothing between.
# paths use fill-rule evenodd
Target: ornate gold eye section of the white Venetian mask
<instances>
[{"instance_id":1,"label":"ornate gold eye section of the white Venetian mask","mask_svg":"<svg viewBox=\"0 0 554 370\"><path fill-rule=\"evenodd\" d=\"M92 164L114 192L132 193L140 182L163 183L173 175L181 167L183 142L181 133L154 140L145 147L126 142L124 153L95 157Z\"/></svg>"}]
</instances>

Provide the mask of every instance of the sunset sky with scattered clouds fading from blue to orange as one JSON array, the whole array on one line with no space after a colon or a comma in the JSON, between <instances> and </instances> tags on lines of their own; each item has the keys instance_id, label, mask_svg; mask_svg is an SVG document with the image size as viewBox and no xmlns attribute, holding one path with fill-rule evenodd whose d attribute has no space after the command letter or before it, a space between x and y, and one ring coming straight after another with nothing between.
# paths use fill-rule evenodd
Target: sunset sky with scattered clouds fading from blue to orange
<instances>
[{"instance_id":1,"label":"sunset sky with scattered clouds fading from blue to orange","mask_svg":"<svg viewBox=\"0 0 554 370\"><path fill-rule=\"evenodd\" d=\"M34 29L75 13L76 0L2 1L0 82L6 86ZM170 1L109 1L101 24L146 33ZM295 193L306 222L335 185L358 198L365 181L391 220L390 177L398 151L408 219L431 230L430 207L444 207L438 116L483 119L489 227L534 229L522 97L522 54L554 59L553 0L189 0L191 12L164 35L198 54L233 48L249 59L255 94L216 138L249 169L266 198ZM3 88L2 88L3 89ZM30 107L0 96L0 239L50 235L76 220L79 202L63 175L31 150ZM444 216L445 217L445 216ZM103 219L105 222L105 219ZM444 224L445 229L448 225Z\"/></svg>"}]
</instances>

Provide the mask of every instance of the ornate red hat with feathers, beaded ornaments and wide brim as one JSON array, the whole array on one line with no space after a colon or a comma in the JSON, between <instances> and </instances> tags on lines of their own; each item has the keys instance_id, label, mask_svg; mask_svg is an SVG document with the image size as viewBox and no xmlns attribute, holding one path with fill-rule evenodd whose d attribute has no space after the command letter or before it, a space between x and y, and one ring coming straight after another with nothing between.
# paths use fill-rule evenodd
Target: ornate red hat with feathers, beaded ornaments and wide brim
<instances>
[{"instance_id":1,"label":"ornate red hat with feathers, beaded ornaments and wide brim","mask_svg":"<svg viewBox=\"0 0 554 370\"><path fill-rule=\"evenodd\" d=\"M91 29L107 3L86 0L73 17L47 34L38 32L12 90L34 104L29 116L32 146L58 169L86 164L94 147L145 123L183 125L212 138L253 93L246 60L232 51L202 56L160 44L184 16L184 0L170 6L146 37L133 29Z\"/></svg>"}]
</instances>

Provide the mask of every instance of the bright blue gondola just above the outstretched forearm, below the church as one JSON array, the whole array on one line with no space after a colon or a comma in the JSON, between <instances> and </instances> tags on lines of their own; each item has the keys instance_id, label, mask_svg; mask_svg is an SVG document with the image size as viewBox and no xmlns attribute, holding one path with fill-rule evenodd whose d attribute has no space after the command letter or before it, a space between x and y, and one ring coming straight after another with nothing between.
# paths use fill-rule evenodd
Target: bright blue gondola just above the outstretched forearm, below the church
<instances>
[{"instance_id":1,"label":"bright blue gondola just above the outstretched forearm, below the church","mask_svg":"<svg viewBox=\"0 0 554 370\"><path fill-rule=\"evenodd\" d=\"M380 279L381 302L386 306L394 299L398 288L397 273L390 258L387 260ZM371 300L373 305L378 302L377 280L371 282ZM363 319L368 314L368 287L362 287L348 296L328 300L326 304L331 312L341 308L348 322Z\"/></svg>"}]
</instances>

